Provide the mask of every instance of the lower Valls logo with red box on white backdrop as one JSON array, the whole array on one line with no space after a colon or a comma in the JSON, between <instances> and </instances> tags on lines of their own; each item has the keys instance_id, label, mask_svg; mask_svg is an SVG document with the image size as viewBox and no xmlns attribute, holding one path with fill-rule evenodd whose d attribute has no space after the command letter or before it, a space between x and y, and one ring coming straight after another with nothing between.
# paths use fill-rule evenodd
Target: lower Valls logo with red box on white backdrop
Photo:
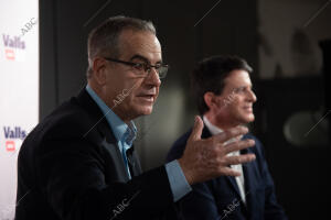
<instances>
[{"instance_id":1,"label":"lower Valls logo with red box on white backdrop","mask_svg":"<svg viewBox=\"0 0 331 220\"><path fill-rule=\"evenodd\" d=\"M14 152L17 150L17 141L23 141L26 136L26 131L20 127L3 127L6 151Z\"/></svg>"}]
</instances>

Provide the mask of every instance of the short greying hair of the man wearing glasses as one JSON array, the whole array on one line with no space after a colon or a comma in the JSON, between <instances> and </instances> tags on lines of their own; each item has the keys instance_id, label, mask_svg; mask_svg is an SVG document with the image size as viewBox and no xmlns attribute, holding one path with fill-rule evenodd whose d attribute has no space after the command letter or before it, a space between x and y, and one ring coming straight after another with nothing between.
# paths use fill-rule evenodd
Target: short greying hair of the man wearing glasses
<instances>
[{"instance_id":1,"label":"short greying hair of the man wearing glasses","mask_svg":"<svg viewBox=\"0 0 331 220\"><path fill-rule=\"evenodd\" d=\"M88 68L87 78L92 75L93 58L95 56L113 56L117 58L120 55L119 35L124 30L147 31L156 35L157 31L151 21L129 16L110 16L97 28L92 30L87 40Z\"/></svg>"}]
</instances>

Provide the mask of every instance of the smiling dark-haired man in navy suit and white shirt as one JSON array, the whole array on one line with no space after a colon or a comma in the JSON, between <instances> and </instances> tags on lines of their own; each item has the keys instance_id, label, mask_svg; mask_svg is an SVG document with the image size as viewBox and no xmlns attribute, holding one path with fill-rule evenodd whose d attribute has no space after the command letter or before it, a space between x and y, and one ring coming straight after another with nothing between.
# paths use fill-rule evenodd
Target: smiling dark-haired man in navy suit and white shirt
<instances>
[{"instance_id":1,"label":"smiling dark-haired man in navy suit and white shirt","mask_svg":"<svg viewBox=\"0 0 331 220\"><path fill-rule=\"evenodd\" d=\"M256 96L249 78L252 68L236 56L214 56L202 61L193 70L192 90L203 116L202 139L223 133L224 130L254 121L253 103ZM191 131L173 144L168 161L180 158L185 151ZM229 155L254 153L256 161L232 166L242 175L220 176L195 184L192 191L180 200L183 219L287 219L275 195L261 143L252 134L255 146ZM225 142L225 146L234 140Z\"/></svg>"}]
</instances>

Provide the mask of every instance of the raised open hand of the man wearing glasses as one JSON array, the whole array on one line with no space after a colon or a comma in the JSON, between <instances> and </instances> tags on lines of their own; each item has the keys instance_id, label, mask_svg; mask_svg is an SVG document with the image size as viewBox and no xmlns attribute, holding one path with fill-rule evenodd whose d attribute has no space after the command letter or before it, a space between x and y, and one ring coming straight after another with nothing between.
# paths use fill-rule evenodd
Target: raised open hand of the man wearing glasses
<instances>
[{"instance_id":1,"label":"raised open hand of the man wearing glasses","mask_svg":"<svg viewBox=\"0 0 331 220\"><path fill-rule=\"evenodd\" d=\"M247 128L236 127L209 139L201 139L202 129L202 119L195 117L183 156L178 160L189 184L205 182L222 175L239 176L241 173L232 169L229 165L255 160L254 154L227 155L231 152L254 146L254 140L236 140L229 144L224 144L229 139L247 133Z\"/></svg>"}]
</instances>

